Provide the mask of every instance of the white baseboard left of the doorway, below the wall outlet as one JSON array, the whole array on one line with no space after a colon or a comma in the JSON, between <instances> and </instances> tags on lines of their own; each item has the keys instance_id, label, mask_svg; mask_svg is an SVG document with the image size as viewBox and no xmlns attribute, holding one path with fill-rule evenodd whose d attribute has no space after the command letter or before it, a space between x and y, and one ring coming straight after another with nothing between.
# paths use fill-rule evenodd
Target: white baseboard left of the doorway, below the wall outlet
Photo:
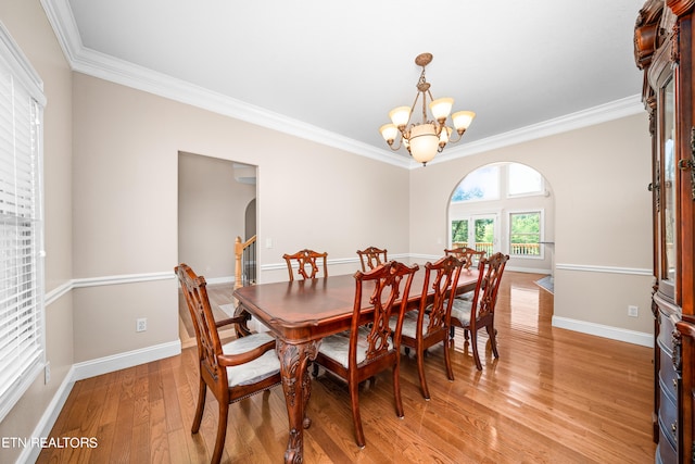
<instances>
[{"instance_id":1,"label":"white baseboard left of the doorway, below the wall outlet","mask_svg":"<svg viewBox=\"0 0 695 464\"><path fill-rule=\"evenodd\" d=\"M125 369L140 364L151 363L165 358L181 354L181 340L154 344L125 353L113 354L97 360L85 361L73 365L75 371L73 380L96 377L115 371Z\"/></svg>"}]
</instances>

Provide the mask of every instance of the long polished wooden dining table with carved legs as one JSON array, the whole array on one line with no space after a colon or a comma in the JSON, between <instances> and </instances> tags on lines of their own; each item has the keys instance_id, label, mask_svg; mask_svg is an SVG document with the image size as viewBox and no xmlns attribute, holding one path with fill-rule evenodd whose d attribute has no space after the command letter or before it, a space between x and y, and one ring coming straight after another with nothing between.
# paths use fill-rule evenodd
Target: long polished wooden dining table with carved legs
<instances>
[{"instance_id":1,"label":"long polished wooden dining table with carved legs","mask_svg":"<svg viewBox=\"0 0 695 464\"><path fill-rule=\"evenodd\" d=\"M422 294L425 271L415 273L408 308L415 309ZM478 271L463 271L457 292L473 290ZM368 319L372 311L364 292L363 314ZM303 429L308 428L306 404L311 397L308 363L316 358L323 338L346 330L352 321L354 275L330 276L307 280L260 284L235 290L240 308L267 326L277 338L282 389L287 402L289 439L286 463L301 463L304 454Z\"/></svg>"}]
</instances>

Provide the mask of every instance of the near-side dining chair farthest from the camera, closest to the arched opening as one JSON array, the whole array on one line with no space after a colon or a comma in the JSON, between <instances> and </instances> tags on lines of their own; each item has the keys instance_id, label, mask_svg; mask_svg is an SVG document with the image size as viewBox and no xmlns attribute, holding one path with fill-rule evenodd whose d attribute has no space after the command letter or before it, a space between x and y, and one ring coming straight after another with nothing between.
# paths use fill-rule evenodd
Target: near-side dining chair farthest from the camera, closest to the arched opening
<instances>
[{"instance_id":1,"label":"near-side dining chair farthest from the camera, closest to the arched opening","mask_svg":"<svg viewBox=\"0 0 695 464\"><path fill-rule=\"evenodd\" d=\"M497 303L497 291L500 290L502 274L508 260L508 254L500 252L490 258L481 259L478 262L478 281L476 283L472 299L455 298L452 305L452 327L460 327L470 331L470 344L478 371L482 371L480 355L478 354L477 335L479 329L485 328L490 337L492 353L495 358L500 358L500 353L497 353L497 330L494 327L495 304Z\"/></svg>"}]
</instances>

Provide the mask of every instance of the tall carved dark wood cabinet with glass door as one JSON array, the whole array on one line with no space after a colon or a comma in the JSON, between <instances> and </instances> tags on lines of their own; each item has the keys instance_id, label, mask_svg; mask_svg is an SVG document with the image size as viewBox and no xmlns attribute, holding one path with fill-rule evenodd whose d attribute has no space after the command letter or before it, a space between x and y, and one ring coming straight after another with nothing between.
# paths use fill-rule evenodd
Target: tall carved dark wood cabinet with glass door
<instances>
[{"instance_id":1,"label":"tall carved dark wood cabinet with glass door","mask_svg":"<svg viewBox=\"0 0 695 464\"><path fill-rule=\"evenodd\" d=\"M695 0L648 0L634 30L653 152L657 463L695 462L694 7Z\"/></svg>"}]
</instances>

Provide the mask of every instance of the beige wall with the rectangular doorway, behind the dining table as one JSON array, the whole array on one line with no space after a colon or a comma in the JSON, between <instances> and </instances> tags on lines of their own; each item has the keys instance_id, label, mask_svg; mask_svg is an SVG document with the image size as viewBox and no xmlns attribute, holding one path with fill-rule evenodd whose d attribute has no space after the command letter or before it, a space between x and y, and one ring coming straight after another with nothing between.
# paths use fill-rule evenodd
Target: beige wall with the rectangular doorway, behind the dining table
<instances>
[{"instance_id":1,"label":"beige wall with the rectangular doorway, behind the dining table","mask_svg":"<svg viewBox=\"0 0 695 464\"><path fill-rule=\"evenodd\" d=\"M178 263L180 151L258 166L261 281L287 279L281 255L302 248L328 251L331 274L354 272L355 250L372 240L408 251L406 170L83 74L74 75L73 114L80 279L165 273ZM218 234L195 226L200 240ZM354 262L340 264L345 259ZM153 304L135 298L146 294ZM157 280L76 290L75 358L178 340L177 304L176 286ZM139 317L148 330L136 336Z\"/></svg>"}]
</instances>

